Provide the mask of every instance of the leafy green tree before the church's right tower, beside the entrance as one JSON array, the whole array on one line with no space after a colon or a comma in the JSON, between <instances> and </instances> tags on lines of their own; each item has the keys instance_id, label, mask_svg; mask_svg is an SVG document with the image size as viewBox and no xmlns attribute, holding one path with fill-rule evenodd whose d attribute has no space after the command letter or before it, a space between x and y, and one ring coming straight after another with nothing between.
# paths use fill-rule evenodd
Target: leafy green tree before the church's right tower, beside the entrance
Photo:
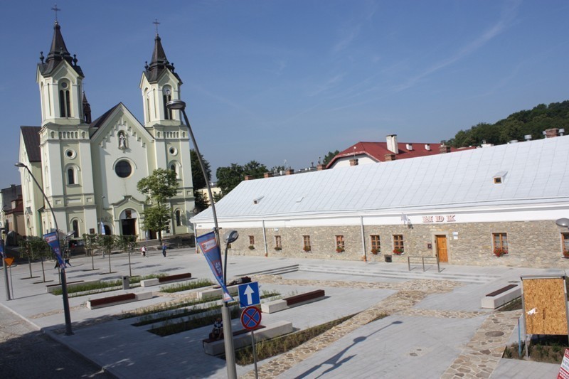
<instances>
[{"instance_id":1,"label":"leafy green tree before the church's right tower, beside the entrance","mask_svg":"<svg viewBox=\"0 0 569 379\"><path fill-rule=\"evenodd\" d=\"M144 225L147 229L156 230L158 239L162 242L162 230L166 230L171 219L169 206L170 198L178 193L176 173L171 170L156 169L151 176L140 179L137 188L147 196L152 206L144 210Z\"/></svg>"}]
</instances>

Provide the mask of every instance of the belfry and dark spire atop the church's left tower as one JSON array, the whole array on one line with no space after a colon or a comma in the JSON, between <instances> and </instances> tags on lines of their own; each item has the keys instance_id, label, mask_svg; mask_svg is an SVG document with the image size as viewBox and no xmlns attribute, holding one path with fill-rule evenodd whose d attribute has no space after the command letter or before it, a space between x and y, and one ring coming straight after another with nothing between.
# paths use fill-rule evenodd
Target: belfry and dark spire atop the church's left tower
<instances>
[{"instance_id":1,"label":"belfry and dark spire atop the church's left tower","mask_svg":"<svg viewBox=\"0 0 569 379\"><path fill-rule=\"evenodd\" d=\"M48 123L77 125L83 122L83 71L69 53L58 21L53 26L48 58L40 53L36 81L40 87L41 126ZM44 62L45 60L45 62Z\"/></svg>"}]
</instances>

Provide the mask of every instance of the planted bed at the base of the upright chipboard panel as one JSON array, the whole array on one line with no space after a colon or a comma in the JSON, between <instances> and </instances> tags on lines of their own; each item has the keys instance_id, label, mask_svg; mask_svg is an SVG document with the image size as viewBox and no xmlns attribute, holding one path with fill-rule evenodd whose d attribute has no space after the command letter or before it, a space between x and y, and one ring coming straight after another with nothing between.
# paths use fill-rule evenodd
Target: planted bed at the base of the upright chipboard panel
<instances>
[{"instance_id":1,"label":"planted bed at the base of the upright chipboard panel","mask_svg":"<svg viewBox=\"0 0 569 379\"><path fill-rule=\"evenodd\" d=\"M529 360L560 364L563 361L565 349L569 348L567 345L567 336L541 336L541 338L531 341ZM525 360L526 351L522 349L520 357L518 354L518 343L513 343L510 346L506 346L504 358Z\"/></svg>"}]
</instances>

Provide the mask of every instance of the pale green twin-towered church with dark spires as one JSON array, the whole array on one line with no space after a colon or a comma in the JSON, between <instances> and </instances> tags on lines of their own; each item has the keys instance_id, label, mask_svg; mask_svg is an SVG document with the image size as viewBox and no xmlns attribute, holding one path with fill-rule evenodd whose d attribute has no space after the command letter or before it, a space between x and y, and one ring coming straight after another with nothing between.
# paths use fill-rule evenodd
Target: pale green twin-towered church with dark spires
<instances>
[{"instance_id":1,"label":"pale green twin-towered church with dark spires","mask_svg":"<svg viewBox=\"0 0 569 379\"><path fill-rule=\"evenodd\" d=\"M137 235L156 238L144 226L146 197L137 190L140 179L155 169L171 169L179 182L169 200L171 224L163 237L193 233L190 217L194 197L188 129L181 112L166 102L180 99L182 81L166 58L156 31L151 62L139 82L144 123L119 102L97 119L85 92L85 73L69 53L58 21L47 57L36 71L41 126L20 129L18 161L26 235L41 236L58 225L63 233ZM42 186L48 204L34 183Z\"/></svg>"}]
</instances>

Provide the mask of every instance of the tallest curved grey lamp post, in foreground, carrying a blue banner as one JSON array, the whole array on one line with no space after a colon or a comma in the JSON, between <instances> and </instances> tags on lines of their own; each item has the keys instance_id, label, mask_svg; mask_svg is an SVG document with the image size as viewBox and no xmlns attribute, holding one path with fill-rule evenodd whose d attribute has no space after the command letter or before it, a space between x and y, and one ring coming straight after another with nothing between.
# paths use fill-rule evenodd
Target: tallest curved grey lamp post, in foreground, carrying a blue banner
<instances>
[{"instance_id":1,"label":"tallest curved grey lamp post, in foreground, carrying a blue banner","mask_svg":"<svg viewBox=\"0 0 569 379\"><path fill-rule=\"evenodd\" d=\"M193 148L196 149L196 154L198 154L198 161L200 162L201 172L203 178L206 179L206 188L208 188L208 196L211 199L211 213L213 214L213 232L216 234L216 241L218 246L219 243L219 225L218 225L218 215L216 213L216 204L213 202L213 194L211 193L211 186L208 181L208 175L206 173L206 166L203 165L203 159L201 159L200 150L198 149L198 143L193 137L193 132L191 131L190 122L188 121L188 116L186 115L186 102L182 100L171 100L166 103L166 107L169 110L179 110L184 115L184 120L186 121L186 126L188 127L189 137L193 143ZM227 252L225 252L225 264L223 265L223 284L227 286ZM235 351L233 350L233 331L231 330L231 314L227 302L223 302L223 307L221 307L221 318L223 320L223 341L225 343L225 361L227 362L227 376L229 379L237 378L237 368L235 366Z\"/></svg>"}]
</instances>

